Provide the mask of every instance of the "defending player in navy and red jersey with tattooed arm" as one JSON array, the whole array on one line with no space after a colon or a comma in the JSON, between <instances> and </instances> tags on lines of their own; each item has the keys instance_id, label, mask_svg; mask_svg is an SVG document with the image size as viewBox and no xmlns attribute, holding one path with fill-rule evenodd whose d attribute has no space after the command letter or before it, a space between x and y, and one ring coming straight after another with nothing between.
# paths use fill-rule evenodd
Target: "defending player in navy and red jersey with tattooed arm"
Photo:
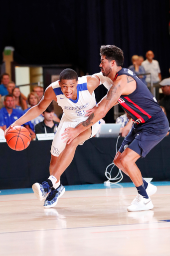
<instances>
[{"instance_id":1,"label":"defending player in navy and red jersey with tattooed arm","mask_svg":"<svg viewBox=\"0 0 170 256\"><path fill-rule=\"evenodd\" d=\"M100 55L101 71L113 83L98 106L89 110L88 119L76 128L66 128L62 136L69 144L82 131L103 118L118 102L134 121L114 158L115 165L130 176L138 190L137 197L127 210L149 210L154 207L150 196L157 191L157 187L143 179L136 161L141 156L145 157L166 136L169 122L147 86L131 70L122 68L124 55L120 48L115 45L102 45Z\"/></svg>"}]
</instances>

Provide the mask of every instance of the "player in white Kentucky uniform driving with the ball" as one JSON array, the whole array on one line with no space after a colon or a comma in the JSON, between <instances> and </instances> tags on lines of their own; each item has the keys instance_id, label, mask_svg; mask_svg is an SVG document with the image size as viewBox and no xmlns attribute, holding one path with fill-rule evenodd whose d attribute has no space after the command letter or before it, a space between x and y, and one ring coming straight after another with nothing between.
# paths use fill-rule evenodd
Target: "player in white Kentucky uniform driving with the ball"
<instances>
[{"instance_id":1,"label":"player in white Kentucky uniform driving with the ball","mask_svg":"<svg viewBox=\"0 0 170 256\"><path fill-rule=\"evenodd\" d=\"M60 175L71 163L76 147L93 137L100 127L100 122L96 122L92 127L80 133L69 145L61 139L61 134L65 128L74 128L88 118L85 115L86 111L90 111L96 105L94 89L102 83L109 88L112 80L103 76L102 73L77 77L77 73L73 69L66 68L60 73L59 80L51 83L46 88L40 102L31 107L5 130L6 134L10 127L22 125L34 119L45 111L52 100L57 101L62 107L63 115L51 146L50 176L42 184L36 182L32 185L32 189L38 199L42 200L46 197L45 208L55 206L58 198L64 193L65 188L60 184ZM71 157L70 154L68 156L68 154L64 153L65 147L72 152Z\"/></svg>"}]
</instances>

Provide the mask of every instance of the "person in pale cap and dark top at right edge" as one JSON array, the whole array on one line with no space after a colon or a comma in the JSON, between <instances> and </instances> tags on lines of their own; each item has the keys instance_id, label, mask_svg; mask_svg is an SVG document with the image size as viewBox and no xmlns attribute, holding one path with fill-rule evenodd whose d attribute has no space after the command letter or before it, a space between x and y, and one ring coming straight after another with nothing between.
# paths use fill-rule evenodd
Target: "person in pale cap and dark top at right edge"
<instances>
[{"instance_id":1,"label":"person in pale cap and dark top at right edge","mask_svg":"<svg viewBox=\"0 0 170 256\"><path fill-rule=\"evenodd\" d=\"M164 93L164 97L161 100L159 100L159 104L165 107L167 118L170 123L170 77L163 79L160 82L160 85Z\"/></svg>"}]
</instances>

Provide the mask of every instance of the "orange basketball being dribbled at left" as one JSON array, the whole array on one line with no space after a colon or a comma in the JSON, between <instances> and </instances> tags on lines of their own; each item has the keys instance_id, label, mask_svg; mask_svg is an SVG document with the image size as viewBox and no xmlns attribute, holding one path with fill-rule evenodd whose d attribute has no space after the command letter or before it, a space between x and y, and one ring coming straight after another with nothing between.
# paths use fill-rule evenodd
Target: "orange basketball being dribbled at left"
<instances>
[{"instance_id":1,"label":"orange basketball being dribbled at left","mask_svg":"<svg viewBox=\"0 0 170 256\"><path fill-rule=\"evenodd\" d=\"M31 135L23 126L14 126L6 133L6 142L10 148L16 151L25 149L31 141Z\"/></svg>"}]
</instances>

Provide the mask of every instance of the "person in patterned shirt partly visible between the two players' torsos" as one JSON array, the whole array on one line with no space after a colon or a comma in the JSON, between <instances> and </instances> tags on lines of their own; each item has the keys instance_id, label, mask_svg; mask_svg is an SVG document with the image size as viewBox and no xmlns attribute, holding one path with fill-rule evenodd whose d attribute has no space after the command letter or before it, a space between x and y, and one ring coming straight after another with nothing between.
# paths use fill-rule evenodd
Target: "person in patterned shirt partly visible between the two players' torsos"
<instances>
[{"instance_id":1,"label":"person in patterned shirt partly visible between the two players' torsos","mask_svg":"<svg viewBox=\"0 0 170 256\"><path fill-rule=\"evenodd\" d=\"M125 111L125 114L122 114L116 119L116 123L121 123L120 134L122 137L125 137L132 128L133 120L132 117Z\"/></svg>"}]
</instances>

